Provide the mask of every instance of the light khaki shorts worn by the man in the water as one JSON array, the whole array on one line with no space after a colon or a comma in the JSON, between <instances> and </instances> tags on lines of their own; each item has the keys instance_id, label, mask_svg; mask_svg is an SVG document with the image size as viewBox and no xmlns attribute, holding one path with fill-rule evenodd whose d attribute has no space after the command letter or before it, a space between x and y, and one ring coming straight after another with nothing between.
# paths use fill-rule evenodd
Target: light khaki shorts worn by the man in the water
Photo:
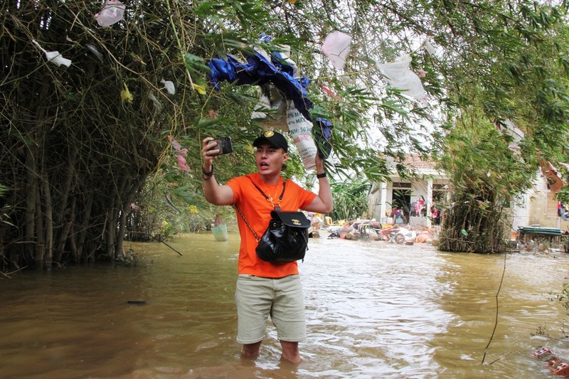
<instances>
[{"instance_id":1,"label":"light khaki shorts worn by the man in the water","mask_svg":"<svg viewBox=\"0 0 569 379\"><path fill-rule=\"evenodd\" d=\"M299 275L282 278L239 275L235 290L238 343L256 343L265 337L271 316L279 341L299 342L307 337L304 296Z\"/></svg>"}]
</instances>

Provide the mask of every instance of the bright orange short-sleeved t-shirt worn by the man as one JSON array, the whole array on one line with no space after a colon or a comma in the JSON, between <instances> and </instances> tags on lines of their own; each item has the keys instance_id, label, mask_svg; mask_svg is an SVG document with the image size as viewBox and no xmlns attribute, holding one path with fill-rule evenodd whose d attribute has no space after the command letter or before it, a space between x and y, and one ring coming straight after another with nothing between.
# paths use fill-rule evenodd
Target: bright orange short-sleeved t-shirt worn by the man
<instances>
[{"instance_id":1,"label":"bright orange short-sleeved t-shirt worn by the man","mask_svg":"<svg viewBox=\"0 0 569 379\"><path fill-rule=\"evenodd\" d=\"M227 185L233 190L233 204L237 205L251 228L261 237L271 219L271 210L274 210L270 201L253 186L253 182L261 188L269 197L272 197L275 205L282 193L282 176L279 183L267 184L261 180L259 173L238 176L228 181ZM287 181L285 195L280 203L281 210L299 210L314 200L316 193L305 190L293 181ZM257 241L243 218L237 213L239 234L241 235L241 245L239 248L239 274L250 274L256 277L286 277L287 275L298 274L297 262L289 263L270 263L260 260L257 257L255 248Z\"/></svg>"}]
</instances>

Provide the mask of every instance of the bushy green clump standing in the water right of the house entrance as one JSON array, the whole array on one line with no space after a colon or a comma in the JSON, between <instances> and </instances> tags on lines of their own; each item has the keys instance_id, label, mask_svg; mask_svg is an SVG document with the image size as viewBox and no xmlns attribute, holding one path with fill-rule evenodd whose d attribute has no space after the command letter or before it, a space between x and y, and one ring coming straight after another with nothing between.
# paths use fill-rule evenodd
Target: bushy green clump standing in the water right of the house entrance
<instances>
[{"instance_id":1,"label":"bushy green clump standing in the water right of the house entrance","mask_svg":"<svg viewBox=\"0 0 569 379\"><path fill-rule=\"evenodd\" d=\"M439 249L502 251L506 210L513 196L531 188L536 171L528 171L523 157L508 148L509 137L475 112L461 114L445 143L440 162L454 191L443 210Z\"/></svg>"}]
</instances>

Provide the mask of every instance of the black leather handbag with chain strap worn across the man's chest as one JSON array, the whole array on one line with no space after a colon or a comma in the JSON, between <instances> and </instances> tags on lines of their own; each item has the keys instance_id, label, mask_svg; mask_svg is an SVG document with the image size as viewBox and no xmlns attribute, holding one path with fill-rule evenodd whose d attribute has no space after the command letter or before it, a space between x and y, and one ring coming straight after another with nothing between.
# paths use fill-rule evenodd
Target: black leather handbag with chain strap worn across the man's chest
<instances>
[{"instance_id":1,"label":"black leather handbag with chain strap worn across the man's chest","mask_svg":"<svg viewBox=\"0 0 569 379\"><path fill-rule=\"evenodd\" d=\"M282 196L285 194L285 184L286 181L282 183L282 193L279 198L279 204L280 201L282 201ZM253 185L272 203L272 199L265 195L261 188L255 183L253 183ZM304 213L280 210L279 206L273 204L275 210L271 211L271 220L269 221L267 230L265 230L265 233L259 238L238 206L234 206L258 242L255 248L257 257L272 263L287 263L296 260L304 260L304 255L306 255L308 247L308 228L310 227L310 220Z\"/></svg>"}]
</instances>

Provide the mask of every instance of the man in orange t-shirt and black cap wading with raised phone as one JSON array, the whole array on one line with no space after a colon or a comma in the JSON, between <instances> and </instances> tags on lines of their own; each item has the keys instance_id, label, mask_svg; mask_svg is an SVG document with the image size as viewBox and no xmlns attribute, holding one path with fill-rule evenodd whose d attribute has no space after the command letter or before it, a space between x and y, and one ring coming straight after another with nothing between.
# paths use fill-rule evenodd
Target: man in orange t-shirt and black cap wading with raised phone
<instances>
[{"instance_id":1,"label":"man in orange t-shirt and black cap wading with raised phone","mask_svg":"<svg viewBox=\"0 0 569 379\"><path fill-rule=\"evenodd\" d=\"M219 147L213 138L203 139L203 191L208 202L237 205L259 237L265 233L271 210L276 206L281 210L300 208L317 213L331 212L330 184L324 172L324 161L318 154L315 157L319 178L317 195L293 181L284 183L280 173L289 155L287 140L282 134L267 131L255 139L253 146L256 148L257 172L232 178L224 186L219 186L213 176L213 159L220 152ZM243 356L258 355L265 324L271 316L282 346L282 359L299 363L298 343L306 338L306 318L297 262L275 264L260 260L255 252L257 240L240 216L238 225L241 245L235 301L238 309L237 341L243 344Z\"/></svg>"}]
</instances>

